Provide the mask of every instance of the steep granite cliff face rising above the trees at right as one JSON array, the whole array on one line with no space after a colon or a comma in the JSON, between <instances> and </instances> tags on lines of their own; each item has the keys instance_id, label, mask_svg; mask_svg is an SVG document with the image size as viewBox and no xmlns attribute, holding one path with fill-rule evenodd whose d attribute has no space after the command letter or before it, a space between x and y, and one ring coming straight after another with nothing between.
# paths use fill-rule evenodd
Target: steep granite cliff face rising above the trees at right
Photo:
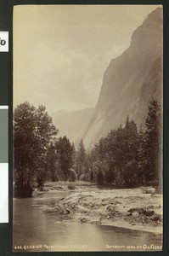
<instances>
[{"instance_id":1,"label":"steep granite cliff face rising above the trees at right","mask_svg":"<svg viewBox=\"0 0 169 256\"><path fill-rule=\"evenodd\" d=\"M129 48L110 61L104 72L99 100L82 139L92 148L127 114L144 124L149 100L162 97L162 9L155 9L132 34Z\"/></svg>"}]
</instances>

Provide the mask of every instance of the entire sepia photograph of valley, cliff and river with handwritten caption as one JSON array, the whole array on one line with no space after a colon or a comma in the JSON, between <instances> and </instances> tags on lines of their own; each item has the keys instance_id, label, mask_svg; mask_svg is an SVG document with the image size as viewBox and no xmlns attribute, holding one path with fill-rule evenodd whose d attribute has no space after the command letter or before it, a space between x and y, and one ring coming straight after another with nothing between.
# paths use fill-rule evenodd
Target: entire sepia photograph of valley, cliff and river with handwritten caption
<instances>
[{"instance_id":1,"label":"entire sepia photograph of valley, cliff and river with handwritten caption","mask_svg":"<svg viewBox=\"0 0 169 256\"><path fill-rule=\"evenodd\" d=\"M13 251L161 251L162 5L18 5Z\"/></svg>"}]
</instances>

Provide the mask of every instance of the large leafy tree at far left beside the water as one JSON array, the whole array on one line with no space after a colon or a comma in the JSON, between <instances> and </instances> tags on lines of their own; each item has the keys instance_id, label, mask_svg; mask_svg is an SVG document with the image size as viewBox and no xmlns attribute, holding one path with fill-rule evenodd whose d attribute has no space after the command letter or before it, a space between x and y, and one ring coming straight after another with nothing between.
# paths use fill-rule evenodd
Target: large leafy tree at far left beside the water
<instances>
[{"instance_id":1,"label":"large leafy tree at far left beside the water","mask_svg":"<svg viewBox=\"0 0 169 256\"><path fill-rule=\"evenodd\" d=\"M47 148L57 133L45 107L24 102L14 109L14 182L15 189L20 190L18 196L25 195L34 178L37 186L44 183Z\"/></svg>"}]
</instances>

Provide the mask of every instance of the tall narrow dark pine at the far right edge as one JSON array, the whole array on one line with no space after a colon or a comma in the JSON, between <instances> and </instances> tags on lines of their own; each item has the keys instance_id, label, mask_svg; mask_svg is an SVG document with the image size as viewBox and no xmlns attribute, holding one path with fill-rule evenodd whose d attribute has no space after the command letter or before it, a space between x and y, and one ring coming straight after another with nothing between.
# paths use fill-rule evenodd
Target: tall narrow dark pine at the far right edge
<instances>
[{"instance_id":1,"label":"tall narrow dark pine at the far right edge","mask_svg":"<svg viewBox=\"0 0 169 256\"><path fill-rule=\"evenodd\" d=\"M152 99L149 102L148 115L145 120L144 173L148 184L161 186L161 103Z\"/></svg>"}]
</instances>

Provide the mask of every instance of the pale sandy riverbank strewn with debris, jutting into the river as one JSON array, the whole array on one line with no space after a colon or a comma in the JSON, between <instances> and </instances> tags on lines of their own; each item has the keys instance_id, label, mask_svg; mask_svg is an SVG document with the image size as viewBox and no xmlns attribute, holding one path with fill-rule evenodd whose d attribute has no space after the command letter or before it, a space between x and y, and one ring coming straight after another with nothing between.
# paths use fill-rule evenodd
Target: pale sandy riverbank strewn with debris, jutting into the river
<instances>
[{"instance_id":1,"label":"pale sandy riverbank strewn with debris, jutting into the river","mask_svg":"<svg viewBox=\"0 0 169 256\"><path fill-rule=\"evenodd\" d=\"M89 184L76 185L71 195L56 202L56 207L63 216L82 223L162 234L162 195L152 188L98 189Z\"/></svg>"}]
</instances>

